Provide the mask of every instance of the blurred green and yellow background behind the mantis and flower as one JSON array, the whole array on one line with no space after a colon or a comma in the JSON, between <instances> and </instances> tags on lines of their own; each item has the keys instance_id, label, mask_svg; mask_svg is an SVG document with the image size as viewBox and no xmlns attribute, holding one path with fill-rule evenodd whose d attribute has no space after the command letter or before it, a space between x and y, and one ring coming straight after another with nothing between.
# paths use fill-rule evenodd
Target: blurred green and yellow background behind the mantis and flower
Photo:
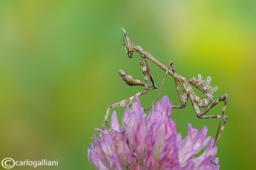
<instances>
[{"instance_id":1,"label":"blurred green and yellow background behind the mantis and flower","mask_svg":"<svg viewBox=\"0 0 256 170\"><path fill-rule=\"evenodd\" d=\"M253 169L255 12L255 1L0 1L0 159L58 158L58 167L38 169L93 169L87 158L93 128L108 105L143 90L118 77L122 69L143 80L139 55L128 58L116 37L124 27L135 45L165 65L172 60L180 75L211 75L215 99L228 93L217 157L221 169ZM148 65L160 87L163 70ZM140 97L142 105L156 94ZM163 95L179 104L170 76ZM124 108L115 110L121 120ZM206 125L211 136L218 126L196 118L190 102L172 118L182 137L188 123Z\"/></svg>"}]
</instances>

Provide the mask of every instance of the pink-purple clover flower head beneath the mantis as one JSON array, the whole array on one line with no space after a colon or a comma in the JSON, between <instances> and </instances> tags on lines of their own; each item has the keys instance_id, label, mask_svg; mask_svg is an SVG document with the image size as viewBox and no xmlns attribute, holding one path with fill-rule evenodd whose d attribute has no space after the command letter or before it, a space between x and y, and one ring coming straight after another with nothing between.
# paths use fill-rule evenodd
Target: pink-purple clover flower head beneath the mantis
<instances>
[{"instance_id":1,"label":"pink-purple clover flower head beneath the mantis","mask_svg":"<svg viewBox=\"0 0 256 170\"><path fill-rule=\"evenodd\" d=\"M182 139L170 118L171 110L164 96L147 116L137 97L131 109L125 109L123 127L114 111L109 130L97 129L99 138L93 134L88 160L96 169L219 169L214 139L205 137L207 127L198 132L188 124L188 135Z\"/></svg>"}]
</instances>

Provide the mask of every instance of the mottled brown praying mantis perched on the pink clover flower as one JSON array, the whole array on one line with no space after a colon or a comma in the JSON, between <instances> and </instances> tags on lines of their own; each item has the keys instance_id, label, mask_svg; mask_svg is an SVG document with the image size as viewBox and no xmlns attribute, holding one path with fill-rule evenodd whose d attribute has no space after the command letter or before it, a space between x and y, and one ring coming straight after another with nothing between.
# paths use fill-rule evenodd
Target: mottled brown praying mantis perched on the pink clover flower
<instances>
[{"instance_id":1,"label":"mottled brown praying mantis perched on the pink clover flower","mask_svg":"<svg viewBox=\"0 0 256 170\"><path fill-rule=\"evenodd\" d=\"M166 79L166 76L168 74L170 74L174 78L175 86L176 86L177 93L178 93L179 100L180 100L180 105L172 105L172 108L174 108L174 109L185 108L186 105L188 104L188 98L189 98L191 104L193 105L195 114L198 118L200 118L200 119L212 119L212 118L220 119L220 123L218 125L218 130L216 132L216 137L215 137L215 142L214 142L213 147L216 146L216 144L218 144L220 136L224 130L225 124L227 123L227 115L225 115L224 112L225 112L226 105L227 105L228 95L226 93L224 93L223 95L221 95L220 98L218 98L218 100L214 100L214 92L216 92L218 90L218 87L215 86L214 88L212 88L212 86L210 84L211 77L208 76L207 79L204 80L204 79L202 79L201 75L198 74L197 78L193 77L192 79L189 79L189 81L188 81L186 79L186 77L182 77L181 75L176 73L175 66L173 65L173 61L170 61L168 67L163 65L163 63L161 63L156 58L154 58L149 52L143 50L138 45L133 45L131 39L127 35L124 28L122 28L122 31L124 32L125 37L123 36L123 40L122 39L120 39L120 40L122 42L122 45L124 45L124 48L125 48L125 51L126 51L128 57L132 58L133 52L138 52L140 54L140 65L141 65L141 70L144 75L144 82L142 82L138 79L135 79L128 73L125 73L123 70L118 70L118 74L122 78L122 80L125 82L125 84L127 84L129 86L144 86L144 90L136 93L132 97L129 97L129 98L122 100L120 102L117 102L115 104L109 105L109 107L106 111L105 118L104 118L104 124L108 126L107 121L108 121L109 111L111 108L129 106L132 104L132 102L134 102L136 97L145 95L150 90L157 89L156 83L154 82L154 79L153 79L153 75L150 72L150 69L149 69L147 61L146 61L146 59L149 59L150 61L152 61L152 63L156 64L157 66L159 66L162 70L164 70L166 72L164 75L163 82L161 84L161 88L159 89L159 91L157 93L156 100L159 97L159 93L160 93L161 89L163 88L163 84ZM125 43L125 40L126 40L127 44ZM148 85L148 77L150 78L152 86ZM180 92L179 83L182 84L182 86L183 86L183 95ZM200 99L200 97L198 97L195 94L195 91L193 91L190 84L192 86L195 86L195 88L197 88L199 91L201 91L203 93L204 99ZM154 105L156 100L154 100L152 105ZM219 104L221 101L224 102L224 105L223 105L223 109L222 109L222 112L220 115L205 116L205 114L208 111L210 111L212 109L212 107ZM149 109L152 108L152 105ZM200 111L201 107L205 108L205 110L202 112ZM222 121L223 121L223 123L222 123Z\"/></svg>"}]
</instances>

